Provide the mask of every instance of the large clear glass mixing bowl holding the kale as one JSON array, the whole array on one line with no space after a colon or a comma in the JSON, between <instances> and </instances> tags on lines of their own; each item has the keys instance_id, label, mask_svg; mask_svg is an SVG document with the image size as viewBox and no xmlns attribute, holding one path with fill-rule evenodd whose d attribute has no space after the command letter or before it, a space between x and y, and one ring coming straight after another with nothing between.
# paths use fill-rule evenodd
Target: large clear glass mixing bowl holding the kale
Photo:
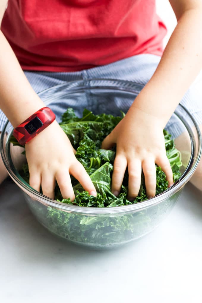
<instances>
[{"instance_id":1,"label":"large clear glass mixing bowl holding the kale","mask_svg":"<svg viewBox=\"0 0 202 303\"><path fill-rule=\"evenodd\" d=\"M85 101L95 113L119 114L127 109L143 88L142 85L119 80L81 80L57 85L39 96L53 110L60 103L61 113L68 106L82 114ZM162 194L144 202L112 208L89 208L57 202L31 188L19 175L12 161L9 137L13 128L7 122L1 136L1 155L5 167L24 193L32 213L50 232L67 241L93 249L107 249L123 245L152 231L171 211L182 188L193 175L201 155L199 128L187 110L179 105L166 129L172 137L182 133L178 146L183 166L180 179ZM7 135L8 134L8 135Z\"/></svg>"}]
</instances>

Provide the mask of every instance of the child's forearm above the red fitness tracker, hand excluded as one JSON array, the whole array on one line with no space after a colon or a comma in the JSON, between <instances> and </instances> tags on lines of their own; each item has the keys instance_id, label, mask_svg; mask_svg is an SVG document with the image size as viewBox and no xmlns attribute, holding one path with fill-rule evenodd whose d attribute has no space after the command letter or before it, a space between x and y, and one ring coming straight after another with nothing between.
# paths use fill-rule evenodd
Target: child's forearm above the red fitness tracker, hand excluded
<instances>
[{"instance_id":1,"label":"child's forearm above the red fitness tracker, hand excluded","mask_svg":"<svg viewBox=\"0 0 202 303\"><path fill-rule=\"evenodd\" d=\"M16 127L44 104L29 84L1 31L0 45L0 108Z\"/></svg>"}]
</instances>

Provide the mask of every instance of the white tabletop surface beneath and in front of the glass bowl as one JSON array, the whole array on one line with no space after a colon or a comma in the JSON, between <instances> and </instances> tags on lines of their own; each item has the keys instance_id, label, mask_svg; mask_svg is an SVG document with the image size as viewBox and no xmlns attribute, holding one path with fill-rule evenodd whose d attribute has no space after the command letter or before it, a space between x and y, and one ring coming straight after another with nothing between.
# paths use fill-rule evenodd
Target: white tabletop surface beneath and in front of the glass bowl
<instances>
[{"instance_id":1,"label":"white tabletop surface beneath and in front of the glass bowl","mask_svg":"<svg viewBox=\"0 0 202 303\"><path fill-rule=\"evenodd\" d=\"M109 251L51 235L13 181L0 196L1 302L202 301L202 195L191 184L158 228Z\"/></svg>"}]
</instances>

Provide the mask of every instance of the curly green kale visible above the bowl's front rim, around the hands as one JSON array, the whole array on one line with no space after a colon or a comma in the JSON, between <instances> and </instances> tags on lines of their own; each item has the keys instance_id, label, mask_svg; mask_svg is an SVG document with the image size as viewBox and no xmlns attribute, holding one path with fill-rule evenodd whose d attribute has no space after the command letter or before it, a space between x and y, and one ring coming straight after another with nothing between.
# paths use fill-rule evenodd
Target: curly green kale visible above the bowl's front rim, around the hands
<instances>
[{"instance_id":1,"label":"curly green kale visible above the bowl's front rim, around the hands","mask_svg":"<svg viewBox=\"0 0 202 303\"><path fill-rule=\"evenodd\" d=\"M133 202L127 200L127 170L118 197L114 196L111 192L111 177L116 151L115 149L101 149L101 143L123 117L124 113L122 112L120 117L115 117L107 114L94 115L91 111L84 109L83 116L79 118L75 115L72 108L68 108L62 115L60 126L76 149L76 158L90 175L98 195L97 197L89 195L87 191L84 191L84 188L82 188L78 181L71 176L75 200L71 202L70 199L63 199L57 182L55 187L56 200L68 204L73 203L74 205L79 206L114 207L139 203L147 199L143 173L138 196ZM175 148L174 140L171 139L171 135L166 130L164 130L164 138L167 158L171 164L174 181L177 181L180 177L180 167L182 165L180 152ZM14 137L11 137L10 141L16 145L18 144ZM23 170L22 177L28 182L29 171L27 164L23 166ZM168 188L168 181L166 180L166 175L161 170L161 167L158 167L157 165L156 178L156 195L158 195Z\"/></svg>"}]
</instances>

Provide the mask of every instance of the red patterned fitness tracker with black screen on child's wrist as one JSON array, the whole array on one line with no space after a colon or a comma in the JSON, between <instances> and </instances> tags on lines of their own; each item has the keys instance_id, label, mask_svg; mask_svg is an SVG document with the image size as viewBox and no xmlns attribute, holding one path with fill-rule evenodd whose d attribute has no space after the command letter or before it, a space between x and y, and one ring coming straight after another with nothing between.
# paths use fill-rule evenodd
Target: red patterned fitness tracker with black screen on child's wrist
<instances>
[{"instance_id":1,"label":"red patterned fitness tracker with black screen on child's wrist","mask_svg":"<svg viewBox=\"0 0 202 303\"><path fill-rule=\"evenodd\" d=\"M13 135L21 145L29 142L55 120L55 114L49 107L43 107L18 125Z\"/></svg>"}]
</instances>

